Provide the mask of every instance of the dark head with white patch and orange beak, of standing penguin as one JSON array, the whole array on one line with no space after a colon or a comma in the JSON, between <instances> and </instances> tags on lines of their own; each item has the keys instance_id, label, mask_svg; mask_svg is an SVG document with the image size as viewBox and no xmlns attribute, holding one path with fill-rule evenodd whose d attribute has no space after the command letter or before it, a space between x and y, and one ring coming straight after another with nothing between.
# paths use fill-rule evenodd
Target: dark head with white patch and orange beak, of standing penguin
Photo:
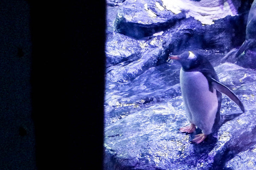
<instances>
[{"instance_id":1,"label":"dark head with white patch and orange beak, of standing penguin","mask_svg":"<svg viewBox=\"0 0 256 170\"><path fill-rule=\"evenodd\" d=\"M180 62L184 70L190 70L200 65L200 57L196 56L192 51L186 51L180 55L169 56L169 58Z\"/></svg>"}]
</instances>

